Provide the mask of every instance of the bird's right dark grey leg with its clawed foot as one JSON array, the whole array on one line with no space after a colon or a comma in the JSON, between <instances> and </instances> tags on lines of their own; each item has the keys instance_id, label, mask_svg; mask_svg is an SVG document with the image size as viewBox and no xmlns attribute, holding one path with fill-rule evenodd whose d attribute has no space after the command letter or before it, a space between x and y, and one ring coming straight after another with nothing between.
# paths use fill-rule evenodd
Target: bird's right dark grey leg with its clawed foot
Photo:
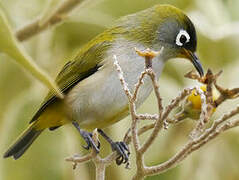
<instances>
[{"instance_id":1,"label":"bird's right dark grey leg with its clawed foot","mask_svg":"<svg viewBox=\"0 0 239 180\"><path fill-rule=\"evenodd\" d=\"M116 158L116 164L121 165L122 163L128 163L130 151L128 145L121 141L121 142L114 142L109 136L107 136L104 131L101 129L97 129L98 133L111 145L113 151L118 153L118 157Z\"/></svg>"}]
</instances>

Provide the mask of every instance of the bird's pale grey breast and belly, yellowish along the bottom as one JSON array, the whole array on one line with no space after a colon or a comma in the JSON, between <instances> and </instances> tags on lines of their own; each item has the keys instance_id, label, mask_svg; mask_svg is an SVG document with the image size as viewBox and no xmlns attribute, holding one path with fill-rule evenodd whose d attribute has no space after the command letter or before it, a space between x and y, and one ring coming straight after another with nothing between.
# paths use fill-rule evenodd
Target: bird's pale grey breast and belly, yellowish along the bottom
<instances>
[{"instance_id":1,"label":"bird's pale grey breast and belly, yellowish along the bottom","mask_svg":"<svg viewBox=\"0 0 239 180\"><path fill-rule=\"evenodd\" d=\"M73 120L77 120L83 128L103 128L128 114L128 99L113 65L113 55L117 56L131 92L144 70L144 59L139 57L133 48L124 48L124 52L114 49L109 51L103 66L96 73L79 82L67 95ZM158 59L153 61L153 68L158 77L162 67L163 61ZM151 91L151 81L146 77L140 88L137 107L145 101Z\"/></svg>"}]
</instances>

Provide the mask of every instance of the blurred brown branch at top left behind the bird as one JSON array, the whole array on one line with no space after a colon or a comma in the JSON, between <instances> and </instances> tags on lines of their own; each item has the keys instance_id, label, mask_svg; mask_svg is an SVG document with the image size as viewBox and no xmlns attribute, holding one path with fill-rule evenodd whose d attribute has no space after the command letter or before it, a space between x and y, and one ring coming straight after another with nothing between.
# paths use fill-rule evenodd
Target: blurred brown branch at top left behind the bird
<instances>
[{"instance_id":1,"label":"blurred brown branch at top left behind the bird","mask_svg":"<svg viewBox=\"0 0 239 180\"><path fill-rule=\"evenodd\" d=\"M16 32L17 39L19 41L25 41L50 26L60 23L80 2L82 2L82 0L65 0L53 11L52 15L43 24L40 23L41 18L38 18L20 28Z\"/></svg>"}]
</instances>

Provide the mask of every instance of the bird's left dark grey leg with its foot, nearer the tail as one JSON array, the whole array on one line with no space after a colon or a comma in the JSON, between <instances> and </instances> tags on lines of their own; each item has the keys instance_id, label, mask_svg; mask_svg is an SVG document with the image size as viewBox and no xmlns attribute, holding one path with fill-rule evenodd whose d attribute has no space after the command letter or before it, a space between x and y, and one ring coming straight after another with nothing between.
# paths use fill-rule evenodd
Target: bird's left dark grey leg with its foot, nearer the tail
<instances>
[{"instance_id":1,"label":"bird's left dark grey leg with its foot, nearer the tail","mask_svg":"<svg viewBox=\"0 0 239 180\"><path fill-rule=\"evenodd\" d=\"M92 139L92 133L82 130L76 121L73 121L72 124L79 131L80 135L84 138L85 142L87 143L87 146L83 146L83 147L87 150L89 150L90 148L93 148L97 153L99 153L100 145L99 143L98 143L98 146L95 144L95 142Z\"/></svg>"}]
</instances>

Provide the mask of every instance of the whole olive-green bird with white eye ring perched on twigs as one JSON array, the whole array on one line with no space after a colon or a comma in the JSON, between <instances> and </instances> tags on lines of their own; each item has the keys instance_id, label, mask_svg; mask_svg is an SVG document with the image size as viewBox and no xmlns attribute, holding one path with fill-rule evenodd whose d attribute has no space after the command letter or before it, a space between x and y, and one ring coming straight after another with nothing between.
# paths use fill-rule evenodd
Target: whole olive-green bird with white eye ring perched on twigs
<instances>
[{"instance_id":1,"label":"whole olive-green bird with white eye ring perched on twigs","mask_svg":"<svg viewBox=\"0 0 239 180\"><path fill-rule=\"evenodd\" d=\"M49 93L28 128L6 151L4 157L18 159L43 130L54 130L72 123L88 144L86 148L92 147L99 151L91 134L85 131L98 128L112 149L119 153L119 157L127 161L127 146L123 142L113 142L101 130L129 114L128 99L113 67L113 56L116 55L129 89L133 90L144 70L144 61L137 55L135 48L159 51L164 47L152 64L159 78L164 63L178 57L189 59L202 76L203 69L195 54L196 46L193 23L173 6L156 5L119 19L115 25L83 46L76 57L63 67L56 82L65 98L59 99ZM151 91L150 79L146 78L138 96L137 107Z\"/></svg>"}]
</instances>

